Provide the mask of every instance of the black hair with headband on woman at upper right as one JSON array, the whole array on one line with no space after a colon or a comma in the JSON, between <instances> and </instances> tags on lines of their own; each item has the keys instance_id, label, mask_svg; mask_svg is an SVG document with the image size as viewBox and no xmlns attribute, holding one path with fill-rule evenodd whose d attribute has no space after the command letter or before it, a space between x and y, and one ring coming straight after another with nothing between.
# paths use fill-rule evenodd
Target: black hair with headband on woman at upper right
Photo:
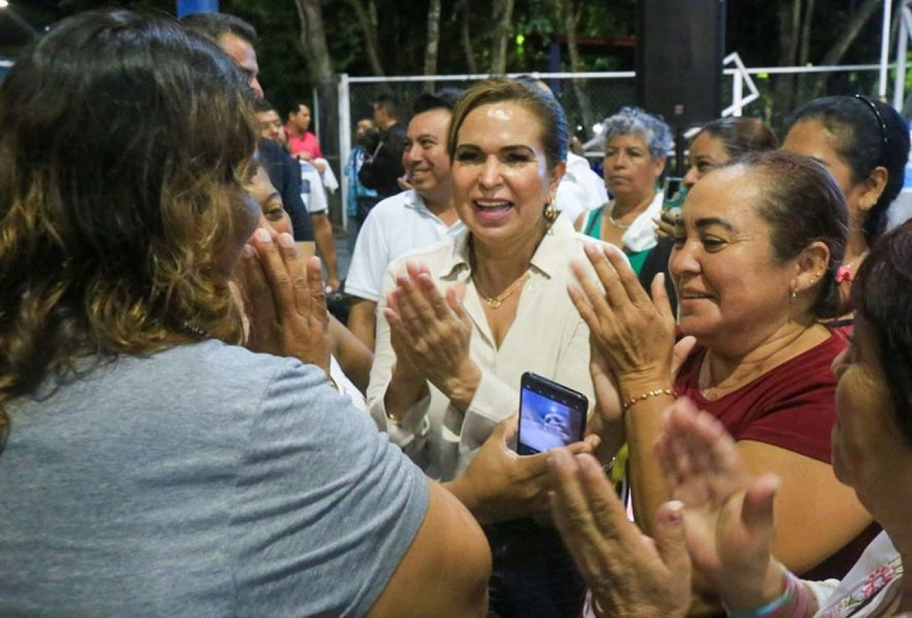
<instances>
[{"instance_id":1,"label":"black hair with headband on woman at upper right","mask_svg":"<svg viewBox=\"0 0 912 618\"><path fill-rule=\"evenodd\" d=\"M906 121L881 101L861 97L815 98L786 121L786 134L803 120L818 120L834 138L834 150L852 170L853 181L865 180L878 166L886 168L884 191L867 211L864 232L870 244L886 229L886 211L903 188L909 154Z\"/></svg>"}]
</instances>

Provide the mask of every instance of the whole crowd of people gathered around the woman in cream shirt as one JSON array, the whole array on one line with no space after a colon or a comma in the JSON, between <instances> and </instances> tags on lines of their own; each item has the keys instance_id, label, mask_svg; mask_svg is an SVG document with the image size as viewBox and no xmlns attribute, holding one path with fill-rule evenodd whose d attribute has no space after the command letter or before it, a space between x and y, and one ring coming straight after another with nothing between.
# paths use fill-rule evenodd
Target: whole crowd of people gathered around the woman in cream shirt
<instances>
[{"instance_id":1,"label":"whole crowd of people gathered around the woman in cream shirt","mask_svg":"<svg viewBox=\"0 0 912 618\"><path fill-rule=\"evenodd\" d=\"M255 43L88 12L0 84L0 615L912 613L895 109L710 122L669 211L643 109L599 180L534 79L380 97L342 324ZM516 452L526 372L586 436Z\"/></svg>"}]
</instances>

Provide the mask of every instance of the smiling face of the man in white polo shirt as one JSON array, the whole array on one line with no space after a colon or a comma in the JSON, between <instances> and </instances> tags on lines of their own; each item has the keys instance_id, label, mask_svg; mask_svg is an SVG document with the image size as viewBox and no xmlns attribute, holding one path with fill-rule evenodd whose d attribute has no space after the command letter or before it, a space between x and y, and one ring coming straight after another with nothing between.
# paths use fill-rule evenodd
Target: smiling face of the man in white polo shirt
<instances>
[{"instance_id":1,"label":"smiling face of the man in white polo shirt","mask_svg":"<svg viewBox=\"0 0 912 618\"><path fill-rule=\"evenodd\" d=\"M430 109L409 121L402 166L411 186L426 201L447 203L451 199L450 156L447 154L448 109Z\"/></svg>"}]
</instances>

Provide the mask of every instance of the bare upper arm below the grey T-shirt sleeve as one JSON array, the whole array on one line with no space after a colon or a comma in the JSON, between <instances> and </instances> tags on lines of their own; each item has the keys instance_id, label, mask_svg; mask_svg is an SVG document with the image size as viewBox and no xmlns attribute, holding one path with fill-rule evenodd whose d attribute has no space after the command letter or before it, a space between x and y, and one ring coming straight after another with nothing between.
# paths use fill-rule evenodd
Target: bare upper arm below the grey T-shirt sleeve
<instances>
[{"instance_id":1,"label":"bare upper arm below the grey T-shirt sleeve","mask_svg":"<svg viewBox=\"0 0 912 618\"><path fill-rule=\"evenodd\" d=\"M491 551L478 523L455 497L428 479L429 503L415 540L370 618L484 616Z\"/></svg>"}]
</instances>

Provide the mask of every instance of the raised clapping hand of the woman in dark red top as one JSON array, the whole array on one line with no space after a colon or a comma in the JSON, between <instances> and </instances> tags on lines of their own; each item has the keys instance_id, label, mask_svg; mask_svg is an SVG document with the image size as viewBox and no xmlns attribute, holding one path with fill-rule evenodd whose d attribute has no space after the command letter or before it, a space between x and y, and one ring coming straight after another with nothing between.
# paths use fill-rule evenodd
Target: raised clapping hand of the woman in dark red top
<instances>
[{"instance_id":1,"label":"raised clapping hand of the woman in dark red top","mask_svg":"<svg viewBox=\"0 0 912 618\"><path fill-rule=\"evenodd\" d=\"M589 326L594 348L611 366L621 394L629 397L670 386L675 318L664 277L656 277L649 298L616 247L590 244L586 257L604 292L583 264L574 263L579 287L569 288L570 297Z\"/></svg>"}]
</instances>

